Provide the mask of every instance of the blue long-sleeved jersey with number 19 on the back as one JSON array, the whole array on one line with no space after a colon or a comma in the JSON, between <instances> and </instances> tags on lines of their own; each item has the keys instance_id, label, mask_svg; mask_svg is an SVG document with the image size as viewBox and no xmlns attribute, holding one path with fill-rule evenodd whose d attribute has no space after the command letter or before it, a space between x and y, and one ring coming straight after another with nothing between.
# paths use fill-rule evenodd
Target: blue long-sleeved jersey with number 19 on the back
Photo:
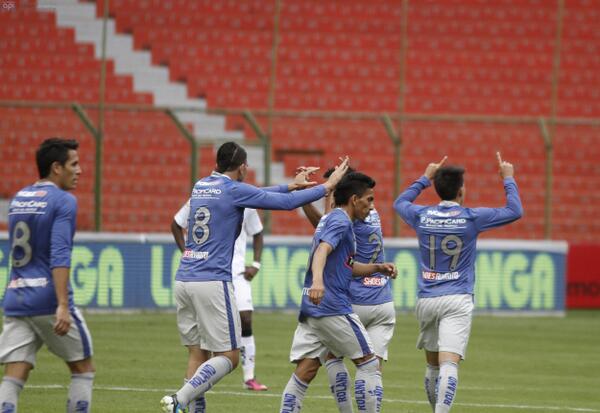
<instances>
[{"instance_id":1,"label":"blue long-sleeved jersey with number 19 on the back","mask_svg":"<svg viewBox=\"0 0 600 413\"><path fill-rule=\"evenodd\" d=\"M464 208L449 201L432 206L412 204L430 185L422 176L394 202L394 209L417 232L421 267L418 295L473 294L477 236L521 217L517 184L513 178L504 179L504 208Z\"/></svg>"}]
</instances>

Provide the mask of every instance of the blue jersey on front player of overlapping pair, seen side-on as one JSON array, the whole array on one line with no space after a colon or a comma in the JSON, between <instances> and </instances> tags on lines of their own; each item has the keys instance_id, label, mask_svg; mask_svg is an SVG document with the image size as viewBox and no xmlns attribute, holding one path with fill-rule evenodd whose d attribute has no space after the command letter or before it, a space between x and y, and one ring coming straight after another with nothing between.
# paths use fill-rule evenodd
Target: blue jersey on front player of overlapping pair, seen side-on
<instances>
[{"instance_id":1,"label":"blue jersey on front player of overlapping pair, seen side-on","mask_svg":"<svg viewBox=\"0 0 600 413\"><path fill-rule=\"evenodd\" d=\"M325 294L319 305L314 305L308 298L308 289L312 286L312 260L313 255L321 242L326 242L333 247L327 256L323 270L323 284ZM302 305L300 306L300 320L303 317L326 317L352 313L349 290L352 280L352 260L356 252L356 241L352 222L346 212L336 208L324 215L317 225L313 237L308 270L304 278L302 290Z\"/></svg>"}]
</instances>

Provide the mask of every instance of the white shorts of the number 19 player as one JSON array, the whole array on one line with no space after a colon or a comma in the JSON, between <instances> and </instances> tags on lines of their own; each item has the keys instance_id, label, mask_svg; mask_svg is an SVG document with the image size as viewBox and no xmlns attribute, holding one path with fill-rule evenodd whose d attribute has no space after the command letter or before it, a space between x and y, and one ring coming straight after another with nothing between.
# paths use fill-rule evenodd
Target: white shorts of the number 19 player
<instances>
[{"instance_id":1,"label":"white shorts of the number 19 player","mask_svg":"<svg viewBox=\"0 0 600 413\"><path fill-rule=\"evenodd\" d=\"M474 306L471 294L419 298L415 309L420 326L417 348L456 353L464 359Z\"/></svg>"}]
</instances>

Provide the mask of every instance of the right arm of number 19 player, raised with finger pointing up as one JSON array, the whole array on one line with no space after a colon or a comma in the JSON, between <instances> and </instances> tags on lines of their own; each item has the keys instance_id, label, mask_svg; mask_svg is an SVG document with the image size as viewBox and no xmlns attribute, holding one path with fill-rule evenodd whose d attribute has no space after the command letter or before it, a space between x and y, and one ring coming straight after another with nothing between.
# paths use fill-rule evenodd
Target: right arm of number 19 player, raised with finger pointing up
<instances>
[{"instance_id":1,"label":"right arm of number 19 player, raised with finger pointing up","mask_svg":"<svg viewBox=\"0 0 600 413\"><path fill-rule=\"evenodd\" d=\"M504 182L506 206L502 208L474 208L475 225L480 231L487 231L502 225L510 224L523 216L523 205L519 197L519 189L514 179L514 167L502 160L496 153L500 177Z\"/></svg>"}]
</instances>

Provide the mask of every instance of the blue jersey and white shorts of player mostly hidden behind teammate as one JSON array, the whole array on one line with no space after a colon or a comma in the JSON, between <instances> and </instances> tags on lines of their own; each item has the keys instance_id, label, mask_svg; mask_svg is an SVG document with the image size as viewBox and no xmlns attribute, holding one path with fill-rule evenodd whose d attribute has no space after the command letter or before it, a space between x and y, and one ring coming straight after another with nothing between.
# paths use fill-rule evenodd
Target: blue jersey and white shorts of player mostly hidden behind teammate
<instances>
[{"instance_id":1,"label":"blue jersey and white shorts of player mostly hidden behind teammate","mask_svg":"<svg viewBox=\"0 0 600 413\"><path fill-rule=\"evenodd\" d=\"M376 210L371 210L364 221L354 221L354 235L357 262L369 264L385 261L381 220ZM379 273L368 277L353 277L350 283L350 302L371 337L375 355L387 360L388 345L396 324L389 277Z\"/></svg>"}]
</instances>

